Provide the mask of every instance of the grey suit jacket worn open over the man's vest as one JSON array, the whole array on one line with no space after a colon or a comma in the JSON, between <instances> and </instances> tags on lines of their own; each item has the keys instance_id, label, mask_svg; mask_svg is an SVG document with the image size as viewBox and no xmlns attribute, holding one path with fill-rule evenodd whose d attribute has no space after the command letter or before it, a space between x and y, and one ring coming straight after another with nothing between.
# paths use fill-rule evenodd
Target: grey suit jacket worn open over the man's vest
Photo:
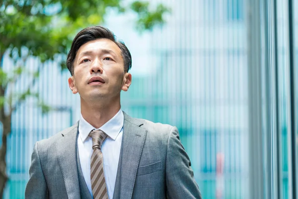
<instances>
[{"instance_id":1,"label":"grey suit jacket worn open over the man's vest","mask_svg":"<svg viewBox=\"0 0 298 199\"><path fill-rule=\"evenodd\" d=\"M78 123L35 144L26 199L80 198L77 133ZM114 199L201 199L190 166L176 127L124 113Z\"/></svg>"}]
</instances>

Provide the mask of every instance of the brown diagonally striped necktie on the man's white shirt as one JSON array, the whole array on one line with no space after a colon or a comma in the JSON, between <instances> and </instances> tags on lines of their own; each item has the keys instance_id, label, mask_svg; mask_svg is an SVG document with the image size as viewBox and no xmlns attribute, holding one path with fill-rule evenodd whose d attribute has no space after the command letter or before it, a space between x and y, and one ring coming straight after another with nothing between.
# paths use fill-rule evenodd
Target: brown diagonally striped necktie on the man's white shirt
<instances>
[{"instance_id":1,"label":"brown diagonally striped necktie on the man's white shirt","mask_svg":"<svg viewBox=\"0 0 298 199\"><path fill-rule=\"evenodd\" d=\"M91 156L91 188L94 199L108 199L107 187L103 173L103 155L101 144L107 137L102 130L92 130L89 133L92 138L93 153Z\"/></svg>"}]
</instances>

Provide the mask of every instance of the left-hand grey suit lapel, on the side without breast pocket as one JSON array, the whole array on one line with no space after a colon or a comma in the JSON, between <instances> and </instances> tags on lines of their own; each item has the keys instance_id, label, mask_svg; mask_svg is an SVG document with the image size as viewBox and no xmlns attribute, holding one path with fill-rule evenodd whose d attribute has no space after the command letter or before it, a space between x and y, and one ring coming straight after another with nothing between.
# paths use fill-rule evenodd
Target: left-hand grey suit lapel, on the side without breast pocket
<instances>
[{"instance_id":1,"label":"left-hand grey suit lapel, on the side without breast pocket","mask_svg":"<svg viewBox=\"0 0 298 199\"><path fill-rule=\"evenodd\" d=\"M69 132L62 132L63 137L56 144L59 165L63 174L67 195L70 199L80 198L76 166L77 127L78 123Z\"/></svg>"}]
</instances>

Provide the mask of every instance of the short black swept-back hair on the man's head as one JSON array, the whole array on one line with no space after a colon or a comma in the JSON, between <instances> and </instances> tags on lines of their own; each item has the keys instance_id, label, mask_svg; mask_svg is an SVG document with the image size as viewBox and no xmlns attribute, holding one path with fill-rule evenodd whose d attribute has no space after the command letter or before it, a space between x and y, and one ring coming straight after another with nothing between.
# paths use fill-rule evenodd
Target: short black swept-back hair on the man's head
<instances>
[{"instance_id":1,"label":"short black swept-back hair on the man's head","mask_svg":"<svg viewBox=\"0 0 298 199\"><path fill-rule=\"evenodd\" d=\"M96 39L110 39L113 41L121 50L124 61L124 70L128 72L132 68L132 56L124 42L118 40L114 33L108 28L99 25L90 26L82 29L76 34L71 46L71 50L67 55L66 65L72 76L74 75L74 59L76 52L83 44Z\"/></svg>"}]
</instances>

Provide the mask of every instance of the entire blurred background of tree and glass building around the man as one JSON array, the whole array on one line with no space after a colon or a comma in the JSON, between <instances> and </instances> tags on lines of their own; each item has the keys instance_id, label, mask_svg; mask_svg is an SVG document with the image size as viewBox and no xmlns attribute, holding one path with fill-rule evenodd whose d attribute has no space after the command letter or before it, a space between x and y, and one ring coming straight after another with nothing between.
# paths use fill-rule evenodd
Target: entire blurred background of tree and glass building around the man
<instances>
[{"instance_id":1,"label":"entire blurred background of tree and glass building around the man","mask_svg":"<svg viewBox=\"0 0 298 199\"><path fill-rule=\"evenodd\" d=\"M66 53L80 29L100 24L132 54L122 109L177 126L204 199L297 199L297 9L298 0L0 1L0 194L24 198L35 142L79 119Z\"/></svg>"}]
</instances>

